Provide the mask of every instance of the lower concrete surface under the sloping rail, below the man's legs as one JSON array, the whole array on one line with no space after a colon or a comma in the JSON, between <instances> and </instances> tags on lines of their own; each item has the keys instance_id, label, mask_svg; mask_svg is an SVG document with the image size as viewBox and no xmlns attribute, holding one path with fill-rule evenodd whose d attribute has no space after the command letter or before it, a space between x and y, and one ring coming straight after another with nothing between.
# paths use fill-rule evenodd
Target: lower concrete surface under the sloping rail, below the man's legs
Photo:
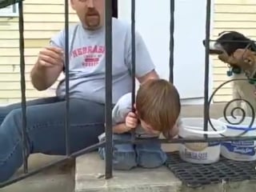
<instances>
[{"instance_id":1,"label":"lower concrete surface under the sloping rail, below the man's legs","mask_svg":"<svg viewBox=\"0 0 256 192\"><path fill-rule=\"evenodd\" d=\"M60 156L33 154L29 158L29 170L38 169L50 162L57 161ZM22 174L22 168L17 174ZM26 178L20 182L0 189L0 192L73 192L74 191L74 161L64 162Z\"/></svg>"}]
</instances>

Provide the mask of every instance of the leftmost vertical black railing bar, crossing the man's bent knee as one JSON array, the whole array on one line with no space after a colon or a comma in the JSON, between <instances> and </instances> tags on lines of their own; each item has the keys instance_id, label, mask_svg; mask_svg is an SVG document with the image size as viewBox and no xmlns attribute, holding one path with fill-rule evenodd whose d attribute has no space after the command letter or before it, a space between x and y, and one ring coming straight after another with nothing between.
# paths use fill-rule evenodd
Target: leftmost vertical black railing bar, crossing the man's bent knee
<instances>
[{"instance_id":1,"label":"leftmost vertical black railing bar, crossing the man's bent knee","mask_svg":"<svg viewBox=\"0 0 256 192\"><path fill-rule=\"evenodd\" d=\"M19 53L20 53L20 73L21 73L21 90L22 90L22 156L23 171L28 172L28 138L26 134L26 78L25 78L25 58L24 58L24 18L23 2L18 2L18 27L19 27Z\"/></svg>"}]
</instances>

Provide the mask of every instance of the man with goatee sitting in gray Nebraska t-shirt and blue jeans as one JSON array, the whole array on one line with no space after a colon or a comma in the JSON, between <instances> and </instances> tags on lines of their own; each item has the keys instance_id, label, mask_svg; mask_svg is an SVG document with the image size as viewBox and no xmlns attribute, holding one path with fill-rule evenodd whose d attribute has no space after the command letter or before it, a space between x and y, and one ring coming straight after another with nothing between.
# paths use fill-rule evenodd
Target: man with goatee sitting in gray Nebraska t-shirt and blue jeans
<instances>
[{"instance_id":1,"label":"man with goatee sitting in gray Nebraska t-shirt and blue jeans","mask_svg":"<svg viewBox=\"0 0 256 192\"><path fill-rule=\"evenodd\" d=\"M98 142L104 132L105 30L104 0L70 0L80 22L70 26L70 151ZM54 19L54 18L53 18ZM132 89L130 25L113 18L113 104ZM38 54L30 76L37 90L46 90L64 71L65 32L50 39ZM136 77L138 82L158 78L150 54L136 33ZM27 156L34 153L65 154L65 81L56 97L27 102ZM0 182L22 166L21 104L0 108Z\"/></svg>"}]
</instances>

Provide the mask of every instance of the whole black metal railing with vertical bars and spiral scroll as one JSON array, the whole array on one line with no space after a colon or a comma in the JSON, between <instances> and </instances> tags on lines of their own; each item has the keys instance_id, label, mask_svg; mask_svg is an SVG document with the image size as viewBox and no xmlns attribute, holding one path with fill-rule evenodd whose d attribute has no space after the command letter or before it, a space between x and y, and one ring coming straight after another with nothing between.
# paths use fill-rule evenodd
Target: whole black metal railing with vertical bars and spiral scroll
<instances>
[{"instance_id":1,"label":"whole black metal railing with vertical bars and spiral scroll","mask_svg":"<svg viewBox=\"0 0 256 192\"><path fill-rule=\"evenodd\" d=\"M10 1L11 2L11 1ZM11 2L14 3L15 1ZM132 94L132 101L135 100L135 1L131 1L131 34L132 34L132 71L131 75L133 78L133 94ZM9 6L9 4L6 6ZM26 83L25 83L25 58L24 58L24 21L23 21L23 6L22 1L18 2L18 10L19 10L19 42L20 42L20 73L21 73L21 90L22 90L22 141L23 141L23 167L24 167L24 174L18 176L18 178L13 178L9 181L0 183L0 188L10 185L11 183L18 182L24 178L28 178L31 175L38 174L40 171L45 170L51 166L54 166L58 163L65 162L69 158L76 158L82 154L89 153L90 151L98 149L98 147L106 146L106 170L105 170L105 178L109 179L112 178L112 149L113 149L113 138L112 138L112 118L111 118L111 110L112 110L112 1L106 0L106 11L105 11L105 23L106 23L106 107L105 107L105 115L106 115L106 141L98 142L93 146L89 146L83 150L79 150L73 154L70 154L70 138L69 138L69 129L70 129L70 87L69 87L69 1L65 0L65 62L66 62L66 126L63 127L63 131L66 133L66 156L59 159L56 162L52 162L46 166L38 170L32 170L28 172L28 150L27 150L27 143L26 143ZM222 88L226 83L235 81L230 80L228 82L222 83L221 86L218 86L214 93L210 96L208 95L209 90L209 50L210 50L210 10L211 10L211 0L206 0L206 50L205 50L205 82L204 82L204 130L208 130L208 123L210 122L209 111L210 111L210 103L214 97L214 94ZM170 82L174 81L173 75L173 68L174 68L174 0L170 0L170 60L169 60L169 67L170 67ZM240 79L248 80L248 79ZM233 100L234 101L234 100ZM231 102L233 102L231 101ZM250 105L250 102L242 99L242 101L249 104L253 111L253 121L250 123L250 126L254 122L254 107ZM230 102L227 103L227 106L230 105ZM224 110L224 116L226 117L226 108ZM243 113L243 116L245 114ZM239 122L241 123L241 121ZM243 133L244 134L244 133ZM159 142L164 143L185 143L185 142L222 142L222 141L248 141L248 140L256 140L256 137L241 137L242 134L239 134L236 137L222 137L222 138L207 138L205 135L204 138L192 139L192 138L174 138L171 140L167 139L159 139ZM0 138L1 139L1 138ZM147 142L148 139L146 138L134 138L131 140L115 140L115 143L127 143L127 142ZM1 170L0 170L1 172ZM0 173L1 174L1 173Z\"/></svg>"}]
</instances>

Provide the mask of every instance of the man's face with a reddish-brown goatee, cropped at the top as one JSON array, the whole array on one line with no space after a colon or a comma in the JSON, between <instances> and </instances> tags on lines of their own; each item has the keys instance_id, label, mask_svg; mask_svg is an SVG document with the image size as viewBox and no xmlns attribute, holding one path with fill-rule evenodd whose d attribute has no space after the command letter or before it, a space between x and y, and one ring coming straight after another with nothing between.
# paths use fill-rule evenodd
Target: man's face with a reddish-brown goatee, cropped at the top
<instances>
[{"instance_id":1,"label":"man's face with a reddish-brown goatee, cropped at the top","mask_svg":"<svg viewBox=\"0 0 256 192\"><path fill-rule=\"evenodd\" d=\"M104 22L105 0L70 0L82 25L88 30L97 30Z\"/></svg>"}]
</instances>

